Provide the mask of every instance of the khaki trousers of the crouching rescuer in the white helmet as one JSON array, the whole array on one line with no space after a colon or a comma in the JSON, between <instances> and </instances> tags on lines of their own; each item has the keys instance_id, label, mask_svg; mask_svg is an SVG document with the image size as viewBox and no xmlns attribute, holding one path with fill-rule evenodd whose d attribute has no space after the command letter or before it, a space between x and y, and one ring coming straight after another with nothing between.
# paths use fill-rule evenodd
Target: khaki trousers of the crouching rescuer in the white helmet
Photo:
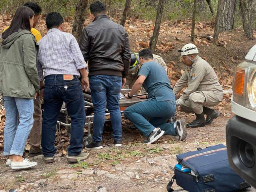
<instances>
[{"instance_id":1,"label":"khaki trousers of the crouching rescuer in the white helmet","mask_svg":"<svg viewBox=\"0 0 256 192\"><path fill-rule=\"evenodd\" d=\"M189 95L180 108L185 113L195 112L196 114L201 114L203 113L203 106L216 106L221 102L222 97L223 95L218 95L213 91L196 91Z\"/></svg>"}]
</instances>

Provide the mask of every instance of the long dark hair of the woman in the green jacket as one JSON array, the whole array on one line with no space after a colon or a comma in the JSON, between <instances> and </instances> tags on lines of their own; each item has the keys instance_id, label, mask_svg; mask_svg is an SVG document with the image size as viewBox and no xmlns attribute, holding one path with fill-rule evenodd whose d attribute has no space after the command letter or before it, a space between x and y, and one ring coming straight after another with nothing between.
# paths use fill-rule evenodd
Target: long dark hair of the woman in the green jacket
<instances>
[{"instance_id":1,"label":"long dark hair of the woman in the green jacket","mask_svg":"<svg viewBox=\"0 0 256 192\"><path fill-rule=\"evenodd\" d=\"M3 39L6 39L9 35L21 30L31 30L29 18L32 18L34 12L32 9L26 6L20 6L13 17L12 23L8 29L3 32Z\"/></svg>"}]
</instances>

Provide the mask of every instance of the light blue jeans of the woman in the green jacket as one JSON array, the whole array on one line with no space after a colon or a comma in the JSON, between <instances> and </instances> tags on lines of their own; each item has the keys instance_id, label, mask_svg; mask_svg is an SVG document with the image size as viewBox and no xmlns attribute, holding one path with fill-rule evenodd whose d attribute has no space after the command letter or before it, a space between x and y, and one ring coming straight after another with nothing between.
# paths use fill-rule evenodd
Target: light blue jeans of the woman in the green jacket
<instances>
[{"instance_id":1,"label":"light blue jeans of the woman in the green jacket","mask_svg":"<svg viewBox=\"0 0 256 192\"><path fill-rule=\"evenodd\" d=\"M33 126L33 99L4 96L4 155L23 155L27 137ZM18 121L18 117L20 117Z\"/></svg>"}]
</instances>

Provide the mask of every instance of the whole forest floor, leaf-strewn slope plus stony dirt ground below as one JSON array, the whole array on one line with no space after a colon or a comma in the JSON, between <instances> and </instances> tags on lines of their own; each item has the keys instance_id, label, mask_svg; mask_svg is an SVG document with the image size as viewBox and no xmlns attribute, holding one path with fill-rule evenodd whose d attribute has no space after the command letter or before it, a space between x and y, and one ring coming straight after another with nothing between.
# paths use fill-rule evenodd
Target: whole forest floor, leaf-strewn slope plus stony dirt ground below
<instances>
[{"instance_id":1,"label":"whole forest floor, leaf-strewn slope plus stony dirt ground below","mask_svg":"<svg viewBox=\"0 0 256 192\"><path fill-rule=\"evenodd\" d=\"M115 20L115 18L113 18ZM8 16L0 16L0 32L10 24ZM65 22L66 32L72 31L72 18ZM86 19L85 25L91 21ZM29 158L38 165L32 169L12 170L5 167L3 156L3 130L5 112L0 110L0 192L9 189L19 191L166 191L166 185L173 175L169 166L177 164L176 155L194 151L198 147L226 143L226 124L233 116L230 99L233 73L236 66L244 60L256 40L249 41L242 29L221 33L218 44L211 43L200 35L213 35L213 24L196 23L195 44L199 55L215 69L220 83L225 90L223 102L215 109L220 116L210 125L200 128L188 128L187 138L178 141L177 137L163 136L151 145L143 145L142 134L130 128L130 122L123 120L123 146L112 146L112 134L103 133L103 149L90 151L84 163L69 164L66 160L69 137L62 129L61 144L57 145L55 163L45 164L42 156ZM129 19L126 29L132 51L149 46L154 23L144 20ZM37 27L42 35L47 33L45 20L41 18ZM175 84L184 72L178 49L190 42L191 21L164 22L161 25L156 54L163 57L168 66L168 76ZM254 31L256 37L256 32ZM194 115L179 111L178 119L190 122ZM28 145L26 146L28 149ZM26 155L27 156L27 155ZM100 186L103 188L99 189ZM174 183L174 188L180 189Z\"/></svg>"}]
</instances>

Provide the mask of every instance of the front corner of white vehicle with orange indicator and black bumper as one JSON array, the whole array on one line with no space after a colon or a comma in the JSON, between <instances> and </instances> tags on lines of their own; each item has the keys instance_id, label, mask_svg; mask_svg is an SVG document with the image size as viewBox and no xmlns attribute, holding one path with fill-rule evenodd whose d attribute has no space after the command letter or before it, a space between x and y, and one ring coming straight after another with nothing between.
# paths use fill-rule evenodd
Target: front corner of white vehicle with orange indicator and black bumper
<instances>
[{"instance_id":1,"label":"front corner of white vehicle with orange indicator and black bumper","mask_svg":"<svg viewBox=\"0 0 256 192\"><path fill-rule=\"evenodd\" d=\"M229 163L256 187L256 45L237 66L231 107L235 116L226 125Z\"/></svg>"}]
</instances>

